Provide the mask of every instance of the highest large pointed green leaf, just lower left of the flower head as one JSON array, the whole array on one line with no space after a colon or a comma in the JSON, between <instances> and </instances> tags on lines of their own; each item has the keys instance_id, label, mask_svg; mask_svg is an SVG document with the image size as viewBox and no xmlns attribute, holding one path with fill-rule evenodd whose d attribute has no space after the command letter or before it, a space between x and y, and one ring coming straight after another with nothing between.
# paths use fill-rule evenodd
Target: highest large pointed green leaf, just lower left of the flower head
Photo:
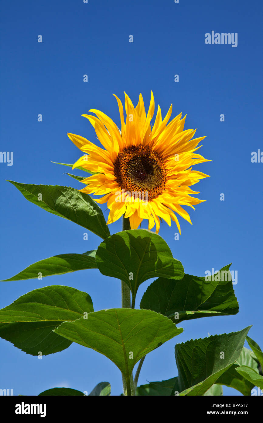
<instances>
[{"instance_id":1,"label":"highest large pointed green leaf, just lower left of the flower head","mask_svg":"<svg viewBox=\"0 0 263 423\"><path fill-rule=\"evenodd\" d=\"M11 182L24 197L50 213L92 231L100 238L110 235L103 212L88 194L59 185L31 185Z\"/></svg>"}]
</instances>

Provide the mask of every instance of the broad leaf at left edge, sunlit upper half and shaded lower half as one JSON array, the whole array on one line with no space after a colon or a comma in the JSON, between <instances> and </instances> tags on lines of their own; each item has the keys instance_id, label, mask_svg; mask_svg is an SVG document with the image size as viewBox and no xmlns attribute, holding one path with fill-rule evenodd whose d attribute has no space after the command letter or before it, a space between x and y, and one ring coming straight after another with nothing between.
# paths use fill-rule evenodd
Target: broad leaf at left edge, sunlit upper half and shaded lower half
<instances>
[{"instance_id":1,"label":"broad leaf at left edge, sunlit upper half and shaded lower half","mask_svg":"<svg viewBox=\"0 0 263 423\"><path fill-rule=\"evenodd\" d=\"M91 311L92 300L86 292L56 285L35 289L0 310L0 337L27 354L52 354L71 343L54 333L54 328Z\"/></svg>"}]
</instances>

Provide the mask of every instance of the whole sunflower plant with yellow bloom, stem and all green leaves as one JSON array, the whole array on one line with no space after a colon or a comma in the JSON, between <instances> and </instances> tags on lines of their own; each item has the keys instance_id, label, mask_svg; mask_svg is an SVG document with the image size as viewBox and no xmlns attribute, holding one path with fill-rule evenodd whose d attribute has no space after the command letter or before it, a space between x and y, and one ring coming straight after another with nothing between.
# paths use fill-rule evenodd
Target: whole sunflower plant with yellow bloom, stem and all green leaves
<instances>
[{"instance_id":1,"label":"whole sunflower plant with yellow bloom, stem and all green leaves","mask_svg":"<svg viewBox=\"0 0 263 423\"><path fill-rule=\"evenodd\" d=\"M181 233L179 218L191 223L184 206L194 209L203 201L195 197L199 192L191 187L208 176L193 170L193 165L210 161L197 154L204 137L193 138L195 130L184 129L182 113L169 122L172 105L164 118L158 106L152 122L153 94L146 113L141 94L134 107L125 93L126 119L122 102L115 97L120 128L99 110L83 115L94 127L102 147L68 134L84 154L74 165L63 165L89 174L69 173L84 188L10 181L28 201L92 231L102 242L83 254L61 254L38 261L5 282L98 269L121 281L122 308L94 311L86 292L69 286L46 286L0 310L0 336L33 356L60 352L72 342L92 348L119 368L125 396L222 395L221 385L250 395L252 387L261 386L263 379L259 346L248 338L252 350L244 348L250 327L176 344L178 376L171 374L171 379L137 386L146 355L180 335L180 322L233 315L239 306L230 265L209 280L187 275L158 234L160 221L169 226L175 222ZM107 203L109 210L107 222L98 205L102 203ZM111 234L108 225L120 218L122 231ZM148 220L148 230L140 228L143 220ZM227 280L222 275L228 275ZM150 278L156 279L136 309L138 287ZM88 393L54 387L40 395ZM89 395L110 395L110 384L98 383Z\"/></svg>"}]
</instances>

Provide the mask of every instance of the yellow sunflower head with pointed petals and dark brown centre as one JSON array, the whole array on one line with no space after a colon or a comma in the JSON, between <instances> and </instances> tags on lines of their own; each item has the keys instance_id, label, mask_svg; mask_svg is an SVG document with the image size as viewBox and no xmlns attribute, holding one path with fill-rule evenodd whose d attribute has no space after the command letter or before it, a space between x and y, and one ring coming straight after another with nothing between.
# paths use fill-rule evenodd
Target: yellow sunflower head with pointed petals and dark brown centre
<instances>
[{"instance_id":1,"label":"yellow sunflower head with pointed petals and dark brown centre","mask_svg":"<svg viewBox=\"0 0 263 423\"><path fill-rule=\"evenodd\" d=\"M142 95L134 107L125 93L125 123L122 102L114 96L119 106L121 130L99 110L89 110L97 117L82 115L89 119L104 148L68 133L70 140L85 153L73 169L81 166L94 173L81 181L86 187L80 191L103 195L95 201L107 203L110 210L107 224L125 214L130 218L132 229L138 228L142 220L147 219L149 229L156 225L158 233L160 219L163 219L169 226L171 220L176 222L181 233L176 214L191 223L182 206L194 209L195 204L204 201L191 196L199 194L199 191L191 190L190 186L209 176L192 170L193 165L210 161L195 152L201 147L198 143L205 137L192 139L196 129L184 130L186 116L182 118L182 113L168 124L172 104L164 119L158 106L151 127L155 109L153 93L147 115Z\"/></svg>"}]
</instances>

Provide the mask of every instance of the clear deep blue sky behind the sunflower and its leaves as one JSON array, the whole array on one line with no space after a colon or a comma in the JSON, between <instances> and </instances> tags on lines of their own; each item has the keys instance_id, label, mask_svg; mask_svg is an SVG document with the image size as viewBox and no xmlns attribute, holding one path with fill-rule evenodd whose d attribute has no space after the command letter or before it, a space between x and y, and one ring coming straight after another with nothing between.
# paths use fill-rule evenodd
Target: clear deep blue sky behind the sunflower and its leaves
<instances>
[{"instance_id":1,"label":"clear deep blue sky behind the sunflower and its leaves","mask_svg":"<svg viewBox=\"0 0 263 423\"><path fill-rule=\"evenodd\" d=\"M206 135L198 152L213 162L195 168L211 178L194 186L206 202L190 210L193 225L180 218L179 240L174 240L174 223L171 228L164 223L160 235L187 273L203 276L232 262L230 269L238 271L234 289L240 311L182 322L181 335L147 355L139 384L175 376L175 343L208 332L253 324L249 336L263 348L263 163L251 162L252 151L263 151L260 7L253 0L2 2L1 151L13 151L14 162L0 163L1 279L52 255L95 249L101 241L93 233L84 241L83 228L29 203L5 181L82 188L63 175L69 168L50 162L73 163L81 156L67 132L98 141L81 114L99 109L119 125L112 93L123 100L125 91L136 104L142 93L148 107L152 90L156 110L160 104L166 114L173 103L172 117L187 114L185 128L198 128L197 137ZM238 46L205 44L205 33L212 30L238 33ZM84 74L88 82L83 82ZM174 82L175 74L179 82ZM221 193L225 201L220 201ZM102 209L107 215L106 205ZM121 230L121 221L109 229ZM151 282L139 287L136 307ZM0 307L56 284L88 292L95 310L121 305L120 281L93 269L42 281L2 282ZM42 360L2 339L0 351L0 387L14 389L14 395L38 395L56 386L90 392L104 380L114 395L122 392L117 367L80 345ZM231 388L224 393L239 395Z\"/></svg>"}]
</instances>

